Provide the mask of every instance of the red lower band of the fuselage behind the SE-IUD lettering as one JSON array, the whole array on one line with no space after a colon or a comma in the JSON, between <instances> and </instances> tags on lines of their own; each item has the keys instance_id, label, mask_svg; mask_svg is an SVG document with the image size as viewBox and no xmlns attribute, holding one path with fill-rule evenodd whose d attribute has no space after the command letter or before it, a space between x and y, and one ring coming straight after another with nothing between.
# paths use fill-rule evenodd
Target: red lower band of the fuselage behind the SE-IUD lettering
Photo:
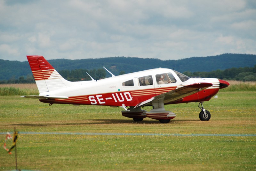
<instances>
[{"instance_id":1,"label":"red lower band of the fuselage behind the SE-IUD lettering","mask_svg":"<svg viewBox=\"0 0 256 171\"><path fill-rule=\"evenodd\" d=\"M104 94L91 94L84 96L71 96L68 99L40 99L44 103L60 104L85 104L85 105L105 105L105 106L135 106L140 102L146 101L162 92L168 92L175 87L159 88L157 94L153 93L155 89L143 89L134 91L119 91ZM217 94L219 89L205 89L193 95L184 97L183 100L174 103L203 102ZM159 93L161 92L161 93ZM166 103L173 104L173 103Z\"/></svg>"}]
</instances>

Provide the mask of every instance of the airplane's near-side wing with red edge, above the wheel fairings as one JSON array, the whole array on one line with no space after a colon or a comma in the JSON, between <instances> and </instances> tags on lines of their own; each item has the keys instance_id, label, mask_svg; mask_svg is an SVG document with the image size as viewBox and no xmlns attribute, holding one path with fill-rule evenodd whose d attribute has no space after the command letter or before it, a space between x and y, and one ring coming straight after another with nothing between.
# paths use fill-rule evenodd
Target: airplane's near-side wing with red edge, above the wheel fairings
<instances>
[{"instance_id":1,"label":"airplane's near-side wing with red edge, above the wheel fairings","mask_svg":"<svg viewBox=\"0 0 256 171\"><path fill-rule=\"evenodd\" d=\"M175 101L178 101L179 99L182 99L183 97L186 97L186 96L189 96L189 95L192 95L196 92L199 92L203 89L206 89L208 87L211 87L212 86L212 83L195 83L195 84L190 84L190 85L187 85L187 86L183 86L181 88L178 88L178 89L175 89L175 90L171 90L171 91L168 91L166 93L163 93L163 94L160 94L160 95L157 95L157 96L154 96L144 102L141 102L139 104L137 104L135 106L136 107L139 107L139 106L142 106L142 105L147 105L147 104L150 104L150 103L154 103L154 102L164 102L164 103L171 103L171 102L175 102Z\"/></svg>"}]
</instances>

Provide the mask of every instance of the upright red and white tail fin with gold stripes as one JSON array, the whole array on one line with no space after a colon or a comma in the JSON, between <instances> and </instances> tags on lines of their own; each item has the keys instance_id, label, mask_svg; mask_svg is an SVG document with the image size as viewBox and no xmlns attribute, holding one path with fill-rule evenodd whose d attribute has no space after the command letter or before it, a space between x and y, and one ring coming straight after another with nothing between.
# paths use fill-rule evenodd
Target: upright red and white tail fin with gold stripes
<instances>
[{"instance_id":1,"label":"upright red and white tail fin with gold stripes","mask_svg":"<svg viewBox=\"0 0 256 171\"><path fill-rule=\"evenodd\" d=\"M65 80L43 56L27 56L39 93L68 87Z\"/></svg>"}]
</instances>

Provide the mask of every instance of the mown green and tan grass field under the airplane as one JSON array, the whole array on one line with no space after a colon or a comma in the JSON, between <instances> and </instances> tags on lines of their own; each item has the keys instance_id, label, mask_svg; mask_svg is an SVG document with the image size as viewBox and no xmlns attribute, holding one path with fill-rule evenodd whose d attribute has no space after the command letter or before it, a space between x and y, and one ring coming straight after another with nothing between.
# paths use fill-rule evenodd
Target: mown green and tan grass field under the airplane
<instances>
[{"instance_id":1,"label":"mown green and tan grass field under the airplane","mask_svg":"<svg viewBox=\"0 0 256 171\"><path fill-rule=\"evenodd\" d=\"M256 137L228 136L256 134L256 91L219 92L218 98L204 103L212 115L205 122L198 118L198 103L166 105L166 110L177 115L169 124L149 118L135 123L121 115L121 108L48 106L36 99L0 97L0 146L6 132L13 132L14 127L21 132L17 142L20 169L256 169ZM0 170L12 169L15 155L2 148Z\"/></svg>"}]
</instances>

